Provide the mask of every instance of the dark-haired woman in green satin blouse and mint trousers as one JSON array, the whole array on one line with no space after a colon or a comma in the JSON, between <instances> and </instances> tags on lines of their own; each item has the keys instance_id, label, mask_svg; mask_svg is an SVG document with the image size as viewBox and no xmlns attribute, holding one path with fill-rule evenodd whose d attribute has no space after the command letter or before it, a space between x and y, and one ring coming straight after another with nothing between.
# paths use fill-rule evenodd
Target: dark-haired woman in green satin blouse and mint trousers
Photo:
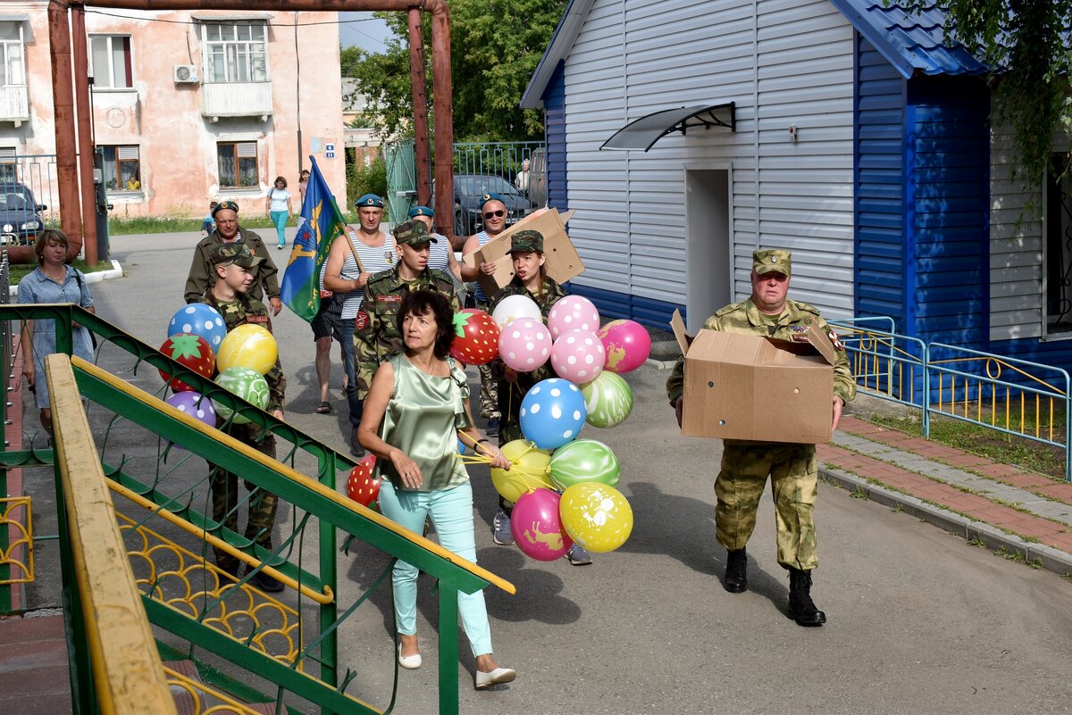
<instances>
[{"instance_id":1,"label":"dark-haired woman in green satin blouse and mint trousers","mask_svg":"<svg viewBox=\"0 0 1072 715\"><path fill-rule=\"evenodd\" d=\"M440 544L475 563L473 488L458 440L475 445L493 467L510 465L473 425L465 372L448 356L455 338L450 302L429 290L406 293L397 320L405 350L376 370L357 432L361 446L376 455L376 471L384 477L379 508L417 533L429 517ZM421 665L417 573L416 566L398 561L391 574L399 665L407 669ZM476 687L517 678L492 658L483 592L459 593L458 609L476 658Z\"/></svg>"}]
</instances>

